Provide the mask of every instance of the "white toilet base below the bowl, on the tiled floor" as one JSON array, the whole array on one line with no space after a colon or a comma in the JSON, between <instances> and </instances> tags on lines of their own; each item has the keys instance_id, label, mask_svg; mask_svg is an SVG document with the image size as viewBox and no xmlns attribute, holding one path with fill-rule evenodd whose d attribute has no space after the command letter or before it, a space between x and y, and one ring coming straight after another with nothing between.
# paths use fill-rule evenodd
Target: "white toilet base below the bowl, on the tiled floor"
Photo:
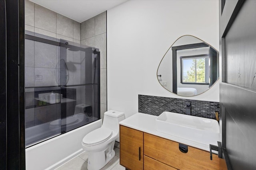
<instances>
[{"instance_id":1,"label":"white toilet base below the bowl, on the tiled floor","mask_svg":"<svg viewBox=\"0 0 256 170\"><path fill-rule=\"evenodd\" d=\"M88 170L99 170L103 168L112 158L116 152L114 151L115 141L108 144L108 147L101 151L89 152L88 154Z\"/></svg>"}]
</instances>

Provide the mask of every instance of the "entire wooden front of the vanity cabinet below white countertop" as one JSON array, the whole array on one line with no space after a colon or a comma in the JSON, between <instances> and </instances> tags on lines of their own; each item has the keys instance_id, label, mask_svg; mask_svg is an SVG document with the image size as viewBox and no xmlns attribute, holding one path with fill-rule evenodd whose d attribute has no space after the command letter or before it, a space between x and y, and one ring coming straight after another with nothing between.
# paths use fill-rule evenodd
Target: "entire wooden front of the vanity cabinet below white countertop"
<instances>
[{"instance_id":1,"label":"entire wooden front of the vanity cabinet below white countertop","mask_svg":"<svg viewBox=\"0 0 256 170\"><path fill-rule=\"evenodd\" d=\"M182 148L180 148L182 147ZM186 149L187 147L187 149ZM130 170L219 170L218 155L120 125L120 164Z\"/></svg>"}]
</instances>

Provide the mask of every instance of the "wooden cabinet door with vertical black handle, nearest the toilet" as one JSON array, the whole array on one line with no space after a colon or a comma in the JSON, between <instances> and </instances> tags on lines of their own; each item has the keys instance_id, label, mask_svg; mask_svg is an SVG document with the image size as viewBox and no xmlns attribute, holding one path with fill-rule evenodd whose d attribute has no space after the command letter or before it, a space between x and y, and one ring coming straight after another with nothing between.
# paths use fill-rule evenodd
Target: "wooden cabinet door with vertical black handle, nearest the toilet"
<instances>
[{"instance_id":1,"label":"wooden cabinet door with vertical black handle, nearest the toilet","mask_svg":"<svg viewBox=\"0 0 256 170\"><path fill-rule=\"evenodd\" d=\"M143 132L120 125L120 164L143 170Z\"/></svg>"}]
</instances>

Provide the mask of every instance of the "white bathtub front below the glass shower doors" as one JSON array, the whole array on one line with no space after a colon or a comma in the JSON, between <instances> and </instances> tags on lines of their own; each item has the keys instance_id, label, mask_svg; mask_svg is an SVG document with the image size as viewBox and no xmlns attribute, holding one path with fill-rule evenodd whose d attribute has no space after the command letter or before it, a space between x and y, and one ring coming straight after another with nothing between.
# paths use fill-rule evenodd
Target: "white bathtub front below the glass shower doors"
<instances>
[{"instance_id":1,"label":"white bathtub front below the glass shower doors","mask_svg":"<svg viewBox=\"0 0 256 170\"><path fill-rule=\"evenodd\" d=\"M27 148L26 170L52 170L71 160L83 152L83 137L101 125L102 120L99 119Z\"/></svg>"}]
</instances>

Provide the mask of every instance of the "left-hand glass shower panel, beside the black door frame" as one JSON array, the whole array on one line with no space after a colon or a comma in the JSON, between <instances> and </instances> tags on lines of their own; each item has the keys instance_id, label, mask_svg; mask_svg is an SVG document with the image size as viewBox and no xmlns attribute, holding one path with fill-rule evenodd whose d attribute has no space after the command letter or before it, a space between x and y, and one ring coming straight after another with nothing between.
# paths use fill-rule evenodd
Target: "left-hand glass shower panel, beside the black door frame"
<instances>
[{"instance_id":1,"label":"left-hand glass shower panel, beside the black door frame","mask_svg":"<svg viewBox=\"0 0 256 170\"><path fill-rule=\"evenodd\" d=\"M61 94L55 79L60 46L55 38L26 32L25 36L25 144L34 145L61 134L60 127L50 123L60 119Z\"/></svg>"}]
</instances>

